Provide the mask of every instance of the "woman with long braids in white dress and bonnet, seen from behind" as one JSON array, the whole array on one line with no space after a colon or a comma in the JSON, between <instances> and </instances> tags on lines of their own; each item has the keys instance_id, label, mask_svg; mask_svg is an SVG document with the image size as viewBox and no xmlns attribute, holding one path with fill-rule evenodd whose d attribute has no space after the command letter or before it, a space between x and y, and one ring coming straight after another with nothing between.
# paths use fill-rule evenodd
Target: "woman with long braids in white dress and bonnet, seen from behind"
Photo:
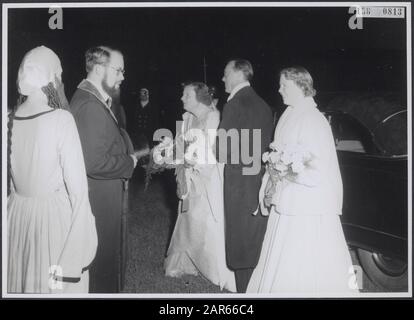
<instances>
[{"instance_id":1,"label":"woman with long braids in white dress and bonnet, seen from behind","mask_svg":"<svg viewBox=\"0 0 414 320\"><path fill-rule=\"evenodd\" d=\"M57 91L62 67L40 46L20 65L25 101L9 115L7 291L87 293L97 235L78 131Z\"/></svg>"}]
</instances>

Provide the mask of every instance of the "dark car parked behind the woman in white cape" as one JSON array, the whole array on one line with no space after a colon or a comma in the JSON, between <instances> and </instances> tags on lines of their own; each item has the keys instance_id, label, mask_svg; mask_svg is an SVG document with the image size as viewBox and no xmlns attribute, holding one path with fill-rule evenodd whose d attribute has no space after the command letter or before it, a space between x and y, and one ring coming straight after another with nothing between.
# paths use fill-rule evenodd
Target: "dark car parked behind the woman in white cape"
<instances>
[{"instance_id":1,"label":"dark car parked behind the woman in white cape","mask_svg":"<svg viewBox=\"0 0 414 320\"><path fill-rule=\"evenodd\" d=\"M348 245L374 283L387 291L406 291L407 111L387 116L373 130L342 111L324 114L341 169L341 219Z\"/></svg>"}]
</instances>

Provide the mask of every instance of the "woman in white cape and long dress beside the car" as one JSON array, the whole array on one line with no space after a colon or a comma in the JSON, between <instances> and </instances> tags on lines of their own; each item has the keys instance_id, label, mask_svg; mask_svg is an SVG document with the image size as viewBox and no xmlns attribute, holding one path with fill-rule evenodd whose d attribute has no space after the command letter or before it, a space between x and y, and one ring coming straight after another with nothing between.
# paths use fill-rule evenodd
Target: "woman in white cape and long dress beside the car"
<instances>
[{"instance_id":1,"label":"woman in white cape and long dress beside the car","mask_svg":"<svg viewBox=\"0 0 414 320\"><path fill-rule=\"evenodd\" d=\"M358 292L339 218L342 180L335 143L329 123L316 107L315 92L306 69L281 71L279 93L288 107L272 146L278 151L301 149L311 160L297 174L276 174L275 179L267 171L263 177L261 212L270 211L270 216L248 293Z\"/></svg>"}]
</instances>

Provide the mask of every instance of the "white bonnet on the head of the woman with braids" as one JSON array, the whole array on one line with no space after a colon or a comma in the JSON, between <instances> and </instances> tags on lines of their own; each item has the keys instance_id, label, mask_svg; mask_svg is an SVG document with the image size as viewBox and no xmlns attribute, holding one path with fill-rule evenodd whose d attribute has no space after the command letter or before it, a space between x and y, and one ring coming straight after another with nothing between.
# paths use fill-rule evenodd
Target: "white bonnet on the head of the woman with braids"
<instances>
[{"instance_id":1,"label":"white bonnet on the head of the woman with braids","mask_svg":"<svg viewBox=\"0 0 414 320\"><path fill-rule=\"evenodd\" d=\"M19 92L28 96L34 90L46 86L55 80L61 79L62 66L58 56L45 46L30 50L20 64L17 84Z\"/></svg>"}]
</instances>

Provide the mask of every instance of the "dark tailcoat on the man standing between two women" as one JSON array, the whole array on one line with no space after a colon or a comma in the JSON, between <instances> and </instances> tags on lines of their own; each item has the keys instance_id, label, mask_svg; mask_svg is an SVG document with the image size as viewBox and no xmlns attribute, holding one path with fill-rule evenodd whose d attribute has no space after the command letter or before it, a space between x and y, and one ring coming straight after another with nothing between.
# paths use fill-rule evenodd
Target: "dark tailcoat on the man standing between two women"
<instances>
[{"instance_id":1,"label":"dark tailcoat on the man standing between two women","mask_svg":"<svg viewBox=\"0 0 414 320\"><path fill-rule=\"evenodd\" d=\"M253 154L252 130L259 129L260 159L256 161L261 164L261 155L271 142L272 120L270 107L249 86L242 88L226 103L219 129L236 129L239 137L241 129L249 129L249 155ZM240 161L242 160L242 144L246 146L246 141L240 139L237 152L227 146L227 164L224 167L226 259L231 269L256 266L267 226L267 217L260 213L252 215L258 207L263 166L256 175L243 175L243 168L252 165L230 163L232 153L233 156L238 153ZM220 147L219 143L217 147Z\"/></svg>"}]
</instances>

